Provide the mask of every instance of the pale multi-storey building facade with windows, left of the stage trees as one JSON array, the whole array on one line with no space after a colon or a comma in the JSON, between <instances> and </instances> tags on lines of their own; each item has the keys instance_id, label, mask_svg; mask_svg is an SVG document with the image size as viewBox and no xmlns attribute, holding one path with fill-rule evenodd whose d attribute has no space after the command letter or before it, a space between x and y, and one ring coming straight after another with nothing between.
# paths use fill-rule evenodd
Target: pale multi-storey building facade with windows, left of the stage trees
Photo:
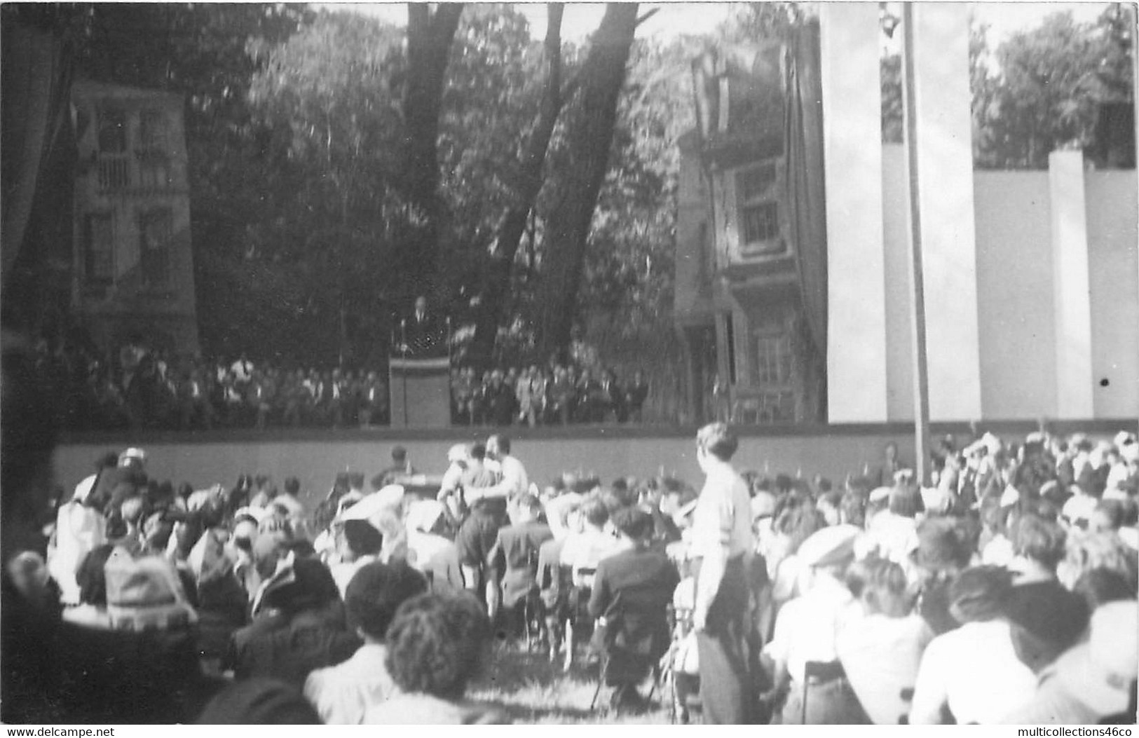
<instances>
[{"instance_id":1,"label":"pale multi-storey building facade with windows, left of the stage trees","mask_svg":"<svg viewBox=\"0 0 1139 738\"><path fill-rule=\"evenodd\" d=\"M72 304L106 348L141 338L196 353L180 95L77 81Z\"/></svg>"}]
</instances>

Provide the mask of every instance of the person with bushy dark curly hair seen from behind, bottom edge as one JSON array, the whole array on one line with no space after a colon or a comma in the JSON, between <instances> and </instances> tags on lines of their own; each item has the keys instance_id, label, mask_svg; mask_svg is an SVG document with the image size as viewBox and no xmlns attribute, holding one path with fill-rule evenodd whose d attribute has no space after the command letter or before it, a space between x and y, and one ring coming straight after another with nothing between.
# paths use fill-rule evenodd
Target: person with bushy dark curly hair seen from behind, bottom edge
<instances>
[{"instance_id":1,"label":"person with bushy dark curly hair seen from behind, bottom edge","mask_svg":"<svg viewBox=\"0 0 1139 738\"><path fill-rule=\"evenodd\" d=\"M465 699L486 666L491 623L468 592L415 597L387 629L387 671L396 692L364 714L369 725L494 724L493 708Z\"/></svg>"}]
</instances>

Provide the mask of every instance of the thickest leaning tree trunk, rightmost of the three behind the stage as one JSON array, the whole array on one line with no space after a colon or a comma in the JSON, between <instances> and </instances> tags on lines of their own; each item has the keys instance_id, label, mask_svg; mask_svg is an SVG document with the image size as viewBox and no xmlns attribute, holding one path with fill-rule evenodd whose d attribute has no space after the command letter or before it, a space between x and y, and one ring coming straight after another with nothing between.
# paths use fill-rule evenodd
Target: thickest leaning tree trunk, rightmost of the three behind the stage
<instances>
[{"instance_id":1,"label":"thickest leaning tree trunk, rightmost of the three behind the stage","mask_svg":"<svg viewBox=\"0 0 1139 738\"><path fill-rule=\"evenodd\" d=\"M546 223L539 348L542 356L570 346L577 293L585 266L585 244L605 172L608 169L617 96L637 28L636 2L611 2L593 34L581 71L582 106L568 134L571 162L562 198Z\"/></svg>"}]
</instances>

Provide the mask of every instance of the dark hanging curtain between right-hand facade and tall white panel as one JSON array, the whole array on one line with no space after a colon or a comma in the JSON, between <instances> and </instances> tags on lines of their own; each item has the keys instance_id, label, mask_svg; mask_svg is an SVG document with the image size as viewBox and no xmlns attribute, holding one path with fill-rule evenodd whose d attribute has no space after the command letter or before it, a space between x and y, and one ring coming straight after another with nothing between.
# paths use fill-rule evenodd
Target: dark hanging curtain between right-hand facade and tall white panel
<instances>
[{"instance_id":1,"label":"dark hanging curtain between right-hand facade and tall white panel","mask_svg":"<svg viewBox=\"0 0 1139 738\"><path fill-rule=\"evenodd\" d=\"M826 417L827 351L827 213L822 161L822 81L819 24L811 20L792 32L787 44L784 182L806 336L806 380L818 401L806 413Z\"/></svg>"}]
</instances>

